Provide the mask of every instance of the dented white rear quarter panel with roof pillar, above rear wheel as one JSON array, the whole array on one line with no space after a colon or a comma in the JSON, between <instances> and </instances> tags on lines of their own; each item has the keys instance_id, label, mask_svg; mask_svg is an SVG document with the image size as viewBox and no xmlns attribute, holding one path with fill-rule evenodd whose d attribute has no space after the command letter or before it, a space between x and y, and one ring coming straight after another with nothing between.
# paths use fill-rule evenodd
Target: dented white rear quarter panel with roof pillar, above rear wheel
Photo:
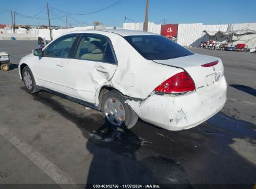
<instances>
[{"instance_id":1,"label":"dented white rear quarter panel with roof pillar, above rear wheel","mask_svg":"<svg viewBox=\"0 0 256 189\"><path fill-rule=\"evenodd\" d=\"M145 99L163 81L182 71L146 60L121 36L111 40L118 67L108 85L133 98Z\"/></svg>"}]
</instances>

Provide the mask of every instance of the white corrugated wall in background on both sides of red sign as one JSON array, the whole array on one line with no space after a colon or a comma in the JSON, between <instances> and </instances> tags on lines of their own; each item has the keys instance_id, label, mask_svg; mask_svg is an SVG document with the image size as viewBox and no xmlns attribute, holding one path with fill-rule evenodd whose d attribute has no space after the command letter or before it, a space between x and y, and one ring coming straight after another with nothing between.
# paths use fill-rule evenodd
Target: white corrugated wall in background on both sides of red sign
<instances>
[{"instance_id":1,"label":"white corrugated wall in background on both sides of red sign","mask_svg":"<svg viewBox=\"0 0 256 189\"><path fill-rule=\"evenodd\" d=\"M148 32L161 34L161 25L149 22ZM124 23L123 29L143 30L143 23ZM201 42L213 39L218 43L246 44L248 48L256 46L256 23L215 24L202 23L179 24L178 44L199 47Z\"/></svg>"}]
</instances>

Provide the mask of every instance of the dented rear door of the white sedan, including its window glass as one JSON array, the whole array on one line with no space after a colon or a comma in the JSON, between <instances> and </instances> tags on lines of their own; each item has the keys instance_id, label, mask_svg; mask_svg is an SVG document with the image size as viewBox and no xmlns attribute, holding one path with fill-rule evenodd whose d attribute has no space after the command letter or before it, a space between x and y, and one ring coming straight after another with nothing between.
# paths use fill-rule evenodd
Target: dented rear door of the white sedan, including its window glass
<instances>
[{"instance_id":1,"label":"dented rear door of the white sedan, including its window glass","mask_svg":"<svg viewBox=\"0 0 256 189\"><path fill-rule=\"evenodd\" d=\"M75 98L95 103L97 88L111 80L116 66L115 52L108 37L81 35L67 64L68 93Z\"/></svg>"}]
</instances>

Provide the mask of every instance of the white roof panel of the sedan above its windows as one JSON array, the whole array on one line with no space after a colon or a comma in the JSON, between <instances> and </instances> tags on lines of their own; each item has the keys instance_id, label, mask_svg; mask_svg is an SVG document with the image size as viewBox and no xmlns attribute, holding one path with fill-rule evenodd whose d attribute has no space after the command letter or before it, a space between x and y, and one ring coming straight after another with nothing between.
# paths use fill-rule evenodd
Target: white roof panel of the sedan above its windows
<instances>
[{"instance_id":1,"label":"white roof panel of the sedan above its windows","mask_svg":"<svg viewBox=\"0 0 256 189\"><path fill-rule=\"evenodd\" d=\"M126 30L126 29L98 29L98 30L77 30L69 32L69 34L72 33L95 33L98 34L99 32L110 32L113 34L118 34L121 36L131 36L131 35L158 35L151 32L143 32L140 30Z\"/></svg>"}]
</instances>

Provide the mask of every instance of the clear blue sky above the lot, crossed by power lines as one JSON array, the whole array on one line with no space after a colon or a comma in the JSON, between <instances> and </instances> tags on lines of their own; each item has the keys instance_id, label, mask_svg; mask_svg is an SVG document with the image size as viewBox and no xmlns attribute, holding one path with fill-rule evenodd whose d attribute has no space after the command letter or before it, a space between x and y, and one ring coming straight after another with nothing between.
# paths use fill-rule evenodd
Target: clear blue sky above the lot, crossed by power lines
<instances>
[{"instance_id":1,"label":"clear blue sky above the lot, crossed by power lines","mask_svg":"<svg viewBox=\"0 0 256 189\"><path fill-rule=\"evenodd\" d=\"M122 0L115 6L95 14L120 0L0 0L0 24L11 24L11 10L16 11L16 23L25 25L47 25L44 9L49 3L51 25L91 25L100 21L107 26L122 27L126 22L143 22L146 0ZM229 24L256 22L255 0L149 0L149 22L163 24L204 23ZM60 12L62 11L62 12ZM36 16L36 14L38 14ZM36 16L36 17L34 17ZM34 17L34 18L30 18Z\"/></svg>"}]
</instances>

